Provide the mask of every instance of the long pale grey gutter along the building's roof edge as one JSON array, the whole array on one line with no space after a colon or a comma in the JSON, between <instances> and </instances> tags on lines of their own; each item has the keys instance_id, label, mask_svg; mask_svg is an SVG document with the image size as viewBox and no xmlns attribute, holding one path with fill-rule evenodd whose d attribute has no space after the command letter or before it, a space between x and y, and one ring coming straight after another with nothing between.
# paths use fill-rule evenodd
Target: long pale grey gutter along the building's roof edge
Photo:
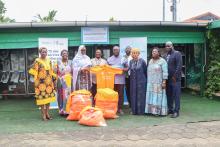
<instances>
[{"instance_id":1,"label":"long pale grey gutter along the building's roof edge","mask_svg":"<svg viewBox=\"0 0 220 147\"><path fill-rule=\"evenodd\" d=\"M40 27L92 27L92 26L185 26L206 27L208 23L172 21L56 21L56 22L16 22L1 23L0 28L40 28Z\"/></svg>"}]
</instances>

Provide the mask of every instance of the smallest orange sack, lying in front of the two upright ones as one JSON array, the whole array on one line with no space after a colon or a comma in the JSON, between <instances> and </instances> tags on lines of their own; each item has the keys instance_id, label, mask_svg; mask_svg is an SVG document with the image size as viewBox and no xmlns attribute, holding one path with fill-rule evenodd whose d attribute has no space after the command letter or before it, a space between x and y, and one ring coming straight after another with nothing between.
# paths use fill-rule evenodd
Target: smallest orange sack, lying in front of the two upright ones
<instances>
[{"instance_id":1,"label":"smallest orange sack, lying in front of the two upright ones","mask_svg":"<svg viewBox=\"0 0 220 147\"><path fill-rule=\"evenodd\" d=\"M90 106L87 106L81 111L79 124L95 127L107 126L102 110Z\"/></svg>"}]
</instances>

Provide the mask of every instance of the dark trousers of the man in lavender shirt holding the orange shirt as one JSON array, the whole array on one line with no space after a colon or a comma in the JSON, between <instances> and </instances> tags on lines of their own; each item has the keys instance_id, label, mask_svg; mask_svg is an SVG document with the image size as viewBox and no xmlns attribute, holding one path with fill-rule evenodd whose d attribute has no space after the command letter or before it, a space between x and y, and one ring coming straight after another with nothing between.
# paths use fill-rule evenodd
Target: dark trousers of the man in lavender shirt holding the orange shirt
<instances>
[{"instance_id":1,"label":"dark trousers of the man in lavender shirt holding the orange shirt","mask_svg":"<svg viewBox=\"0 0 220 147\"><path fill-rule=\"evenodd\" d=\"M115 84L114 90L118 92L118 110L120 110L124 103L124 84Z\"/></svg>"}]
</instances>

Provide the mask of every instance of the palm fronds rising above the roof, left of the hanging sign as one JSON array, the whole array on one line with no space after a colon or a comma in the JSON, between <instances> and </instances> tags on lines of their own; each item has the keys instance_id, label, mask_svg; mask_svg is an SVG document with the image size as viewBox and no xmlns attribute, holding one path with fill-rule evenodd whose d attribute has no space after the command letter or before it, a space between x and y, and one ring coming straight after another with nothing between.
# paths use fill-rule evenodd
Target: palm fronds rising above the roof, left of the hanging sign
<instances>
[{"instance_id":1,"label":"palm fronds rising above the roof, left of the hanging sign","mask_svg":"<svg viewBox=\"0 0 220 147\"><path fill-rule=\"evenodd\" d=\"M56 10L49 11L47 16L42 17L40 14L37 14L35 17L37 18L37 22L54 22L55 16L57 14Z\"/></svg>"}]
</instances>

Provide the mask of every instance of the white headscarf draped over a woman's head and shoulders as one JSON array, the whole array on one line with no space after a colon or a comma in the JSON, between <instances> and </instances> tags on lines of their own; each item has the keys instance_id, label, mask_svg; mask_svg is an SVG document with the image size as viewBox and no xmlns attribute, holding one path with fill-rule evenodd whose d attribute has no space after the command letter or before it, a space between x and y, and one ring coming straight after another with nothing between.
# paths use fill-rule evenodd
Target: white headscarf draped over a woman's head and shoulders
<instances>
[{"instance_id":1,"label":"white headscarf draped over a woman's head and shoulders","mask_svg":"<svg viewBox=\"0 0 220 147\"><path fill-rule=\"evenodd\" d=\"M73 67L79 67L79 68L83 68L83 67L87 67L87 66L91 66L91 60L87 55L83 55L81 53L81 50L85 48L84 45L80 45L78 52L76 54L76 56L73 58Z\"/></svg>"}]
</instances>

